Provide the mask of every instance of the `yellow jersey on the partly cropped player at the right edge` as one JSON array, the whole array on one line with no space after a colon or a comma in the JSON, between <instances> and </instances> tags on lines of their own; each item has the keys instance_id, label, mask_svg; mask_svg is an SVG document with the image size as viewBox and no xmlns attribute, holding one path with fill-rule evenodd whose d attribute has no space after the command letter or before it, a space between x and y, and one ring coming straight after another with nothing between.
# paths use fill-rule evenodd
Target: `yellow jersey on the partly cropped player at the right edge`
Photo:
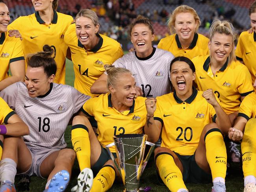
<instances>
[{"instance_id":1,"label":"yellow jersey on the partly cropped player at the right edge","mask_svg":"<svg viewBox=\"0 0 256 192\"><path fill-rule=\"evenodd\" d=\"M252 83L254 83L256 77L255 54L256 33L242 32L236 47L236 58L243 61L245 66L249 69L252 76Z\"/></svg>"}]
</instances>

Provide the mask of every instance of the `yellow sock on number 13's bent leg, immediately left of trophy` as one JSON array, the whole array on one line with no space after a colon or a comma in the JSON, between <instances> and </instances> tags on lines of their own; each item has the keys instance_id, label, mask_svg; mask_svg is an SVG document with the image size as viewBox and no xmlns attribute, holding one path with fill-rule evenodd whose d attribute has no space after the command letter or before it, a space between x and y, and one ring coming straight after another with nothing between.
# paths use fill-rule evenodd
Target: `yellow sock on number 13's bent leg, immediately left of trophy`
<instances>
[{"instance_id":1,"label":"yellow sock on number 13's bent leg, immediately left of trophy","mask_svg":"<svg viewBox=\"0 0 256 192\"><path fill-rule=\"evenodd\" d=\"M90 192L105 192L111 188L115 181L115 168L111 165L103 166L93 179Z\"/></svg>"}]
</instances>

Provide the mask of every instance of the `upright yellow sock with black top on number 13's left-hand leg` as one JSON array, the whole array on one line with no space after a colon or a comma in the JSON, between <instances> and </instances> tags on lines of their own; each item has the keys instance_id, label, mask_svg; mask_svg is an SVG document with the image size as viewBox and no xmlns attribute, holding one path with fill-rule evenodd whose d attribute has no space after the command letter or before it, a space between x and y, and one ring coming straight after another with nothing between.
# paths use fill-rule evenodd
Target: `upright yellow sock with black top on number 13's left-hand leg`
<instances>
[{"instance_id":1,"label":"upright yellow sock with black top on number 13's left-hand leg","mask_svg":"<svg viewBox=\"0 0 256 192\"><path fill-rule=\"evenodd\" d=\"M72 126L71 141L80 167L91 168L91 146L89 140L88 128L82 124Z\"/></svg>"}]
</instances>

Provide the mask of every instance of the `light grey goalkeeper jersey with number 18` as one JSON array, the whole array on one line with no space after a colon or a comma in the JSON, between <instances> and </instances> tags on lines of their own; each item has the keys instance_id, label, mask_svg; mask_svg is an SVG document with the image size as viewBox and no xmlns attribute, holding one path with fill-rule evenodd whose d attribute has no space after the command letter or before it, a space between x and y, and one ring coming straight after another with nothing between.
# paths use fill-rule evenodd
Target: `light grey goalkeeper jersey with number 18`
<instances>
[{"instance_id":1,"label":"light grey goalkeeper jersey with number 18","mask_svg":"<svg viewBox=\"0 0 256 192\"><path fill-rule=\"evenodd\" d=\"M65 148L64 132L69 120L90 98L74 87L56 83L50 84L44 96L32 98L23 82L8 86L0 97L28 125L30 134L24 136L24 141L35 150Z\"/></svg>"}]
</instances>

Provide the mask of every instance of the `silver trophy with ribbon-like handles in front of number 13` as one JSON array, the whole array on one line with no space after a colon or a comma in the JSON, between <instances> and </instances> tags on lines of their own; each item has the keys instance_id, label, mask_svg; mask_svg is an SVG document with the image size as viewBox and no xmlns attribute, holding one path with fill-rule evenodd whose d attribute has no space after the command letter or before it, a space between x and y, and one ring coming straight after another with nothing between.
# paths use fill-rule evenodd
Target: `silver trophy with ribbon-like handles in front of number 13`
<instances>
[{"instance_id":1,"label":"silver trophy with ribbon-like handles in front of number 13","mask_svg":"<svg viewBox=\"0 0 256 192\"><path fill-rule=\"evenodd\" d=\"M139 179L155 146L154 143L147 141L147 137L144 134L116 135L114 142L106 146L122 177L124 192L139 192ZM109 150L114 145L118 161L115 161ZM149 145L150 149L144 159L146 145Z\"/></svg>"}]
</instances>

